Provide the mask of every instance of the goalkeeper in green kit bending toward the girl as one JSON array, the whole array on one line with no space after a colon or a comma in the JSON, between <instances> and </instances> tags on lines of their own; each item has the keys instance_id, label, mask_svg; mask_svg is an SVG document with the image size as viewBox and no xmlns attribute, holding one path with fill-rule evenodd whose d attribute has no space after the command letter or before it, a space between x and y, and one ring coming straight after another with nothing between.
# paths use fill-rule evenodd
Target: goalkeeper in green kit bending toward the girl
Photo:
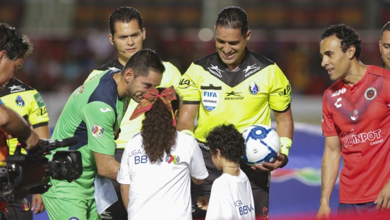
<instances>
[{"instance_id":1,"label":"goalkeeper in green kit bending toward the girl","mask_svg":"<svg viewBox=\"0 0 390 220\"><path fill-rule=\"evenodd\" d=\"M122 71L102 72L72 93L52 138L78 138L77 144L56 150L80 151L83 173L73 182L50 180L52 186L42 195L50 219L100 219L94 200L95 175L116 179L119 163L114 159L114 137L128 102L139 102L149 87L159 85L164 70L160 57L143 49Z\"/></svg>"}]
</instances>

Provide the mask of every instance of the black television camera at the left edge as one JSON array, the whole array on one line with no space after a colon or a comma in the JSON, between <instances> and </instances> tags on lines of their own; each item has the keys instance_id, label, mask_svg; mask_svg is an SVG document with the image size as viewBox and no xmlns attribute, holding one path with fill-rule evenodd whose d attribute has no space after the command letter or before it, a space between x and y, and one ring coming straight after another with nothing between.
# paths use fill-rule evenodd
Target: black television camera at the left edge
<instances>
[{"instance_id":1,"label":"black television camera at the left edge","mask_svg":"<svg viewBox=\"0 0 390 220\"><path fill-rule=\"evenodd\" d=\"M50 187L50 177L68 182L79 178L83 172L79 151L56 151L51 161L46 157L51 154L51 150L76 143L76 137L41 139L40 146L29 150L27 154L21 153L22 144L19 143L14 155L8 155L6 163L0 166L0 201L19 200L27 193L42 194Z\"/></svg>"}]
</instances>

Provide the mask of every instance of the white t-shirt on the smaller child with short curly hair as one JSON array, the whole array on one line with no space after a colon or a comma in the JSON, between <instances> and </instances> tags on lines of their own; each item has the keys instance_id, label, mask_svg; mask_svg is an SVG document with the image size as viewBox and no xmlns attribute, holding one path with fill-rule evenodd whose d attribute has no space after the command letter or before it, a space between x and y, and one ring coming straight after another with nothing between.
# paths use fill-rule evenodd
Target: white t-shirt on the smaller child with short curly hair
<instances>
[{"instance_id":1,"label":"white t-shirt on the smaller child with short curly hair","mask_svg":"<svg viewBox=\"0 0 390 220\"><path fill-rule=\"evenodd\" d=\"M211 187L206 220L254 220L252 188L246 174L239 176L223 173Z\"/></svg>"}]
</instances>

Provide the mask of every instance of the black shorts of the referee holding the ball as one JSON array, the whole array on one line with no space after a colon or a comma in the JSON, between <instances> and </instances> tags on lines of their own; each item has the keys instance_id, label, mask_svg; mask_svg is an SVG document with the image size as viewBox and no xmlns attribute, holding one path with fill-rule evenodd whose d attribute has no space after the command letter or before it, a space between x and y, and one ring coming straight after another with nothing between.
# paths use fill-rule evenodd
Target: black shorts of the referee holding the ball
<instances>
[{"instance_id":1,"label":"black shorts of the referee holding the ball","mask_svg":"<svg viewBox=\"0 0 390 220\"><path fill-rule=\"evenodd\" d=\"M222 171L217 170L211 161L211 154L208 147L203 143L200 143L199 146L202 149L203 159L209 176L203 184L196 185L191 182L192 218L204 218L206 216L206 211L198 208L198 197L210 196L211 186L214 180L222 175ZM270 173L254 171L243 162L240 162L240 168L248 176L250 186L252 187L254 212L256 216L260 216L261 219L268 219Z\"/></svg>"}]
</instances>

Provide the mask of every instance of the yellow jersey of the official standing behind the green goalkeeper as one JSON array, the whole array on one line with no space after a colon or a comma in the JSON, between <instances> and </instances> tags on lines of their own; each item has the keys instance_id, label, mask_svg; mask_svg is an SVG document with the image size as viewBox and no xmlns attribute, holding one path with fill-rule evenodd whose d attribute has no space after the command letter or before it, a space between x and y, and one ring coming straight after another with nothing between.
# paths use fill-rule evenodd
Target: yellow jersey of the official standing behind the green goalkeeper
<instances>
[{"instance_id":1,"label":"yellow jersey of the official standing behind the green goalkeeper","mask_svg":"<svg viewBox=\"0 0 390 220\"><path fill-rule=\"evenodd\" d=\"M161 79L161 84L159 87L169 87L173 85L175 88L179 84L179 80L181 77L180 71L170 62L163 61L165 72L163 74L163 79ZM122 70L123 66L118 62L118 60L112 59L108 61L105 65L102 67L93 70L88 78L85 81L88 81L90 78L92 78L94 75L97 75L101 73L102 71L108 70L108 69L118 69ZM132 115L134 109L136 109L138 103L134 100L131 100L128 104L127 111L123 116L123 120L120 124L120 134L117 140L115 140L115 143L117 145L117 148L124 148L131 138L133 138L134 135L140 133L141 127L142 127L142 120L144 119L144 115L137 117L134 120L129 120L130 116Z\"/></svg>"}]
</instances>

